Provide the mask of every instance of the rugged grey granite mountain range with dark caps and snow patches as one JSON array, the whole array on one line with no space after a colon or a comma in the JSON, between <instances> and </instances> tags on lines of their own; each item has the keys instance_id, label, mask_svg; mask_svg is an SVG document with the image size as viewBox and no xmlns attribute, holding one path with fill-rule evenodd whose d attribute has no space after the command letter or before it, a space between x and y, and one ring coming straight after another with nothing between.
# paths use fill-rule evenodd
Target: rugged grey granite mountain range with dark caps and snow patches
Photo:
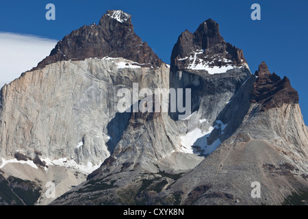
<instances>
[{"instance_id":1,"label":"rugged grey granite mountain range with dark caps and snow patches","mask_svg":"<svg viewBox=\"0 0 308 219\"><path fill-rule=\"evenodd\" d=\"M1 88L0 157L1 205L307 204L298 93L265 62L251 73L211 18L170 65L122 10L64 36Z\"/></svg>"}]
</instances>

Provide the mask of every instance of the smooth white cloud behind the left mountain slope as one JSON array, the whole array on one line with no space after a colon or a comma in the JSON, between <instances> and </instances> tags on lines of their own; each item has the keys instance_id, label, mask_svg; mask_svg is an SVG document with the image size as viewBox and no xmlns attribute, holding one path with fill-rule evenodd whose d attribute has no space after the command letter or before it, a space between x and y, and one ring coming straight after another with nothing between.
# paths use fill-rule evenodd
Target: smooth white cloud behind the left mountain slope
<instances>
[{"instance_id":1,"label":"smooth white cloud behind the left mountain slope","mask_svg":"<svg viewBox=\"0 0 308 219\"><path fill-rule=\"evenodd\" d=\"M0 88L48 56L57 40L0 31Z\"/></svg>"}]
</instances>

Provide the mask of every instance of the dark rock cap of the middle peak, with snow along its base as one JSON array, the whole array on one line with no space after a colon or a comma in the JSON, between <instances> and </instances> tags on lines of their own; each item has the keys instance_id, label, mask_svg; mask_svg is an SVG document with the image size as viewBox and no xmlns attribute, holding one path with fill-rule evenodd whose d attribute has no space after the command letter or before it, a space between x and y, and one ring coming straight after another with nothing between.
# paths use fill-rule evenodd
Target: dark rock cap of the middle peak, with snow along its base
<instances>
[{"instance_id":1,"label":"dark rock cap of the middle peak, with snow along its base","mask_svg":"<svg viewBox=\"0 0 308 219\"><path fill-rule=\"evenodd\" d=\"M186 29L179 36L172 49L170 70L188 68L192 62L189 57L194 55L197 57L196 64L200 60L210 63L209 66L240 66L246 63L242 50L224 41L218 23L211 18L201 23L193 34Z\"/></svg>"}]
</instances>

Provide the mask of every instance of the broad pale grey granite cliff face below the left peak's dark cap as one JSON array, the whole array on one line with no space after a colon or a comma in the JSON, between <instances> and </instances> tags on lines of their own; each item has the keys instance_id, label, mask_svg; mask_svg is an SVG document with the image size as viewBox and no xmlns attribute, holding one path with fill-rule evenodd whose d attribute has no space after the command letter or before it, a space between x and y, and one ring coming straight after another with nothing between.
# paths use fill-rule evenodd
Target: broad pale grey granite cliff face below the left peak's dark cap
<instances>
[{"instance_id":1,"label":"broad pale grey granite cliff face below the left peak's dark cap","mask_svg":"<svg viewBox=\"0 0 308 219\"><path fill-rule=\"evenodd\" d=\"M122 58L61 61L25 73L3 87L1 157L22 151L34 158L73 157L100 164L126 129L129 114L117 117L117 92L164 87L168 68L120 68ZM116 118L115 118L116 117ZM112 126L110 122L112 120Z\"/></svg>"}]
</instances>

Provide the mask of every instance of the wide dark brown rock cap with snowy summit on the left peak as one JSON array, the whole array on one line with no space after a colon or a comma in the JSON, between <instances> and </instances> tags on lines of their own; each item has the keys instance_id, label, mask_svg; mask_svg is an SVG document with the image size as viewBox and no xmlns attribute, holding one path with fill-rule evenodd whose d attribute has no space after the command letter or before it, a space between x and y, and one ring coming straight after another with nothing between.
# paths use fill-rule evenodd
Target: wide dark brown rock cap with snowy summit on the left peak
<instances>
[{"instance_id":1,"label":"wide dark brown rock cap with snowy summit on the left peak","mask_svg":"<svg viewBox=\"0 0 308 219\"><path fill-rule=\"evenodd\" d=\"M90 57L123 57L140 64L160 66L163 62L146 42L133 31L131 15L122 10L108 10L99 25L84 25L57 42L50 55L36 68L62 60Z\"/></svg>"}]
</instances>

